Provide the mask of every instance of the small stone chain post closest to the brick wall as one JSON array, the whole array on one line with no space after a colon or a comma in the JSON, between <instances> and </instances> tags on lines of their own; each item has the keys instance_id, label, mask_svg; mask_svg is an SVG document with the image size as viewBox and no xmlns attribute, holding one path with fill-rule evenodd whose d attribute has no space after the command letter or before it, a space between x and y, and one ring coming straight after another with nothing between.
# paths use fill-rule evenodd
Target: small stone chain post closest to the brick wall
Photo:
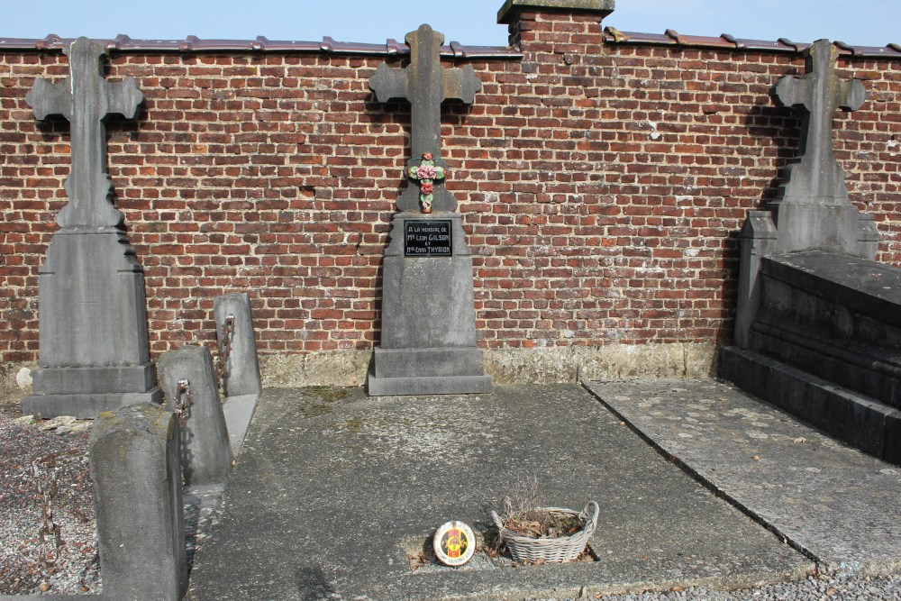
<instances>
[{"instance_id":1,"label":"small stone chain post closest to the brick wall","mask_svg":"<svg viewBox=\"0 0 901 601\"><path fill-rule=\"evenodd\" d=\"M245 292L216 296L213 300L216 322L216 340L223 348L224 325L229 316L234 318L227 344L230 347L225 360L223 396L258 395L263 391L259 378L257 338L250 312L250 296Z\"/></svg>"}]
</instances>

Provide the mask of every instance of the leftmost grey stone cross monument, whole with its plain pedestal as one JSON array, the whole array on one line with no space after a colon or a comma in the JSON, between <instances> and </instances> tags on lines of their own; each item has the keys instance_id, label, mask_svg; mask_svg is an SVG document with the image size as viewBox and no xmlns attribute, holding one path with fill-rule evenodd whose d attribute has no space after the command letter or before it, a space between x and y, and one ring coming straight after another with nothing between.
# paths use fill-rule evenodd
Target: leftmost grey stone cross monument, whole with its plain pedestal
<instances>
[{"instance_id":1,"label":"leftmost grey stone cross monument, whole with its plain pedestal","mask_svg":"<svg viewBox=\"0 0 901 601\"><path fill-rule=\"evenodd\" d=\"M26 102L38 119L71 123L68 205L57 216L38 278L39 369L23 412L41 417L96 417L135 403L159 403L150 362L144 277L110 202L107 114L133 119L143 95L131 77L102 77L106 50L79 38L65 50L69 77L38 79Z\"/></svg>"}]
</instances>

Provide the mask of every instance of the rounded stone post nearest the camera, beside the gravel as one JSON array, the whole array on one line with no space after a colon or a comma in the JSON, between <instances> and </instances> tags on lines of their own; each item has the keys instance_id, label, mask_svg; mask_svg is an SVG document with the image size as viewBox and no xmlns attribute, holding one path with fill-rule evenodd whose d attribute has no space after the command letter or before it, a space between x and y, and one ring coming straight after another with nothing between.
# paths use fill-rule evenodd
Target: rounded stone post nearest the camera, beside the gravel
<instances>
[{"instance_id":1,"label":"rounded stone post nearest the camera, beside the gravel","mask_svg":"<svg viewBox=\"0 0 901 601\"><path fill-rule=\"evenodd\" d=\"M178 423L159 405L98 416L91 432L104 598L177 601L187 587Z\"/></svg>"}]
</instances>

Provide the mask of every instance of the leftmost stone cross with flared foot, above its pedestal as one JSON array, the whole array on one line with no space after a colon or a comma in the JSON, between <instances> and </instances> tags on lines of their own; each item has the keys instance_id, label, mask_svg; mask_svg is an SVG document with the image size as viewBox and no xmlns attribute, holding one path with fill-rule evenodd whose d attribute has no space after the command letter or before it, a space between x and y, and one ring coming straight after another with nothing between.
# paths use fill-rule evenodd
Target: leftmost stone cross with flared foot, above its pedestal
<instances>
[{"instance_id":1,"label":"leftmost stone cross with flared foot, above its pedestal","mask_svg":"<svg viewBox=\"0 0 901 601\"><path fill-rule=\"evenodd\" d=\"M110 203L112 181L106 169L107 114L134 119L144 99L132 77L109 83L103 77L106 49L78 38L64 50L69 77L57 84L34 82L25 101L38 119L61 114L71 125L72 168L66 179L69 203L57 216L62 228L104 228L122 223L123 216Z\"/></svg>"}]
</instances>

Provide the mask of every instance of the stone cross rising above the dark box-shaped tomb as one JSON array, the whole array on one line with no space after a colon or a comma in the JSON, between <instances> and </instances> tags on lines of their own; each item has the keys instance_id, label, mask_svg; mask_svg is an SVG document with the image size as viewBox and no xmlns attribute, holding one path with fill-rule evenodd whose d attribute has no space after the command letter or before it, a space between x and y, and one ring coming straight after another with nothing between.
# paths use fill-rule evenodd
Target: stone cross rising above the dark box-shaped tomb
<instances>
[{"instance_id":1,"label":"stone cross rising above the dark box-shaped tomb","mask_svg":"<svg viewBox=\"0 0 901 601\"><path fill-rule=\"evenodd\" d=\"M805 76L782 77L776 96L787 106L806 109L801 132L801 157L792 165L785 196L811 199L846 198L844 173L833 154L833 113L856 111L867 92L859 80L835 76L838 49L828 40L816 41L805 50Z\"/></svg>"}]
</instances>

